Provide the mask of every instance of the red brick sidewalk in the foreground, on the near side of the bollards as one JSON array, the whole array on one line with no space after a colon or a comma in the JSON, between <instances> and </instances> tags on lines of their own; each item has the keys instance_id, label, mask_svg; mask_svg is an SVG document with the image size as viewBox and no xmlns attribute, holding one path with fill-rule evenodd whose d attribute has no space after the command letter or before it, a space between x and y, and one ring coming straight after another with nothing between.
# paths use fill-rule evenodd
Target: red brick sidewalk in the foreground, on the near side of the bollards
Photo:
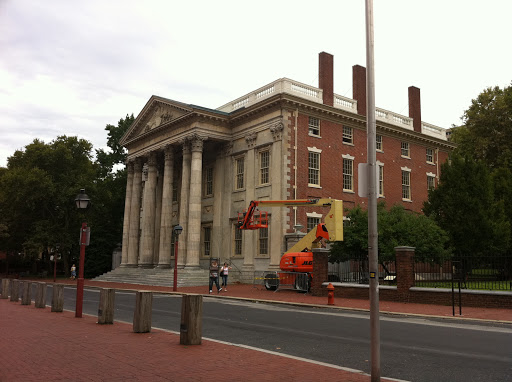
<instances>
[{"instance_id":1,"label":"red brick sidewalk in the foreground, on the near side of the bollards","mask_svg":"<svg viewBox=\"0 0 512 382\"><path fill-rule=\"evenodd\" d=\"M0 300L0 381L370 381L370 377L160 330ZM384 379L383 379L384 380Z\"/></svg>"}]
</instances>

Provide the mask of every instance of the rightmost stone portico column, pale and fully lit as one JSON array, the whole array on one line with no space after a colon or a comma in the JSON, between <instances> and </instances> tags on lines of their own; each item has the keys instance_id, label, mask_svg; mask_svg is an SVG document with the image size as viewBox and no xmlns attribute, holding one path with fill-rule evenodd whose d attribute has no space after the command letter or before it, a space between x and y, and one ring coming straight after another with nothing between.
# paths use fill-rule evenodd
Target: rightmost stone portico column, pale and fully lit
<instances>
[{"instance_id":1,"label":"rightmost stone portico column, pale and fully lit","mask_svg":"<svg viewBox=\"0 0 512 382\"><path fill-rule=\"evenodd\" d=\"M190 199L188 203L187 267L199 267L201 248L201 191L203 178L203 138L191 142Z\"/></svg>"}]
</instances>

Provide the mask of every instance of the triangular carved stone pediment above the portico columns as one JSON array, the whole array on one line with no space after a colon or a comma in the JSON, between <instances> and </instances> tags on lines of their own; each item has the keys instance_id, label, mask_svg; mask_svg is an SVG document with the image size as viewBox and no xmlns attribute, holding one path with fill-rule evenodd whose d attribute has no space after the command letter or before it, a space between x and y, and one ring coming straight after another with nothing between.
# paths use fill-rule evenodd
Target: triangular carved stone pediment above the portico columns
<instances>
[{"instance_id":1,"label":"triangular carved stone pediment above the portico columns","mask_svg":"<svg viewBox=\"0 0 512 382\"><path fill-rule=\"evenodd\" d=\"M139 113L132 126L121 138L122 145L151 130L172 122L192 112L189 105L166 98L152 96Z\"/></svg>"}]
</instances>

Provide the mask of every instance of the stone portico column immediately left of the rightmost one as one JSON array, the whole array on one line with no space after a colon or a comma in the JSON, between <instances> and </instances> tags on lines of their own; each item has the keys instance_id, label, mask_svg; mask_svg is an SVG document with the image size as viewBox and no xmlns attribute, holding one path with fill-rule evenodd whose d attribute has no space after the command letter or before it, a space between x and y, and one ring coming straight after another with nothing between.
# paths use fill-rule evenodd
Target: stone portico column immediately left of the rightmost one
<instances>
[{"instance_id":1,"label":"stone portico column immediately left of the rightmost one","mask_svg":"<svg viewBox=\"0 0 512 382\"><path fill-rule=\"evenodd\" d=\"M190 193L190 143L183 142L183 164L181 170L181 192L180 192L180 212L179 224L183 227L183 233L178 243L178 268L183 268L187 260L187 240L188 235L188 201Z\"/></svg>"}]
</instances>

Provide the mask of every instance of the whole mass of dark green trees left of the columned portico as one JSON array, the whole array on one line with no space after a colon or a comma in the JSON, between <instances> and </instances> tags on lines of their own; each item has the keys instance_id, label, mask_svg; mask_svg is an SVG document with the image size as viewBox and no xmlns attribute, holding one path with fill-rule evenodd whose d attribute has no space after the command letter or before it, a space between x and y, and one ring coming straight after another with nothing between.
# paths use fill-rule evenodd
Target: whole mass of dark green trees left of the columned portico
<instances>
[{"instance_id":1,"label":"whole mass of dark green trees left of the columned portico","mask_svg":"<svg viewBox=\"0 0 512 382\"><path fill-rule=\"evenodd\" d=\"M67 136L50 143L35 139L8 158L0 169L0 249L11 254L10 262L34 263L59 244L68 272L72 262L78 265L79 227L87 221L85 276L110 270L122 238L126 191L126 171L113 169L126 159L119 140L134 119L127 115L117 126L107 125L110 151L97 150L96 162L90 142ZM85 214L74 203L81 188L92 201Z\"/></svg>"}]
</instances>

